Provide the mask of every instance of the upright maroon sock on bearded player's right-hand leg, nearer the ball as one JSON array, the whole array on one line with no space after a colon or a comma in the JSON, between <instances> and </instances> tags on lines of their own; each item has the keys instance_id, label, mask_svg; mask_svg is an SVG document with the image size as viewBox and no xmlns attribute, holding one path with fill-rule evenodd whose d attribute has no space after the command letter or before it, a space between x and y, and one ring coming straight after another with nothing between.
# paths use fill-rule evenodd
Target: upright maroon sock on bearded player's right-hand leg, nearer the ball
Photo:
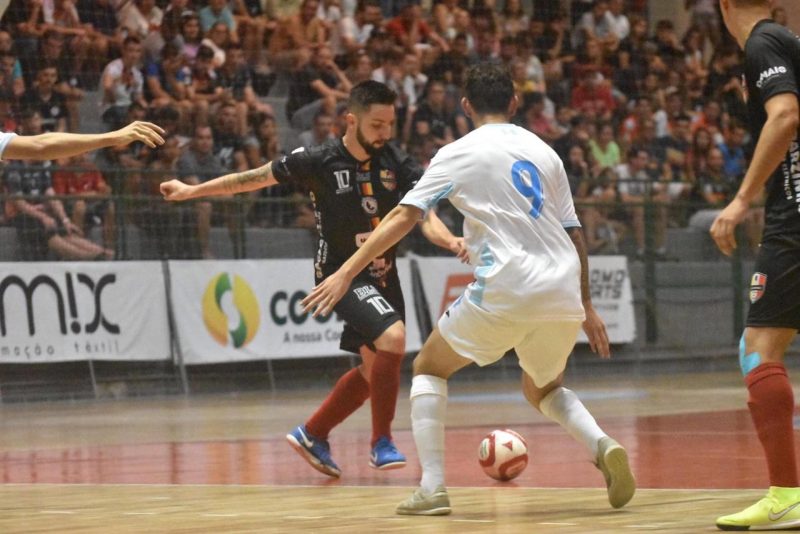
<instances>
[{"instance_id":1,"label":"upright maroon sock on bearded player's right-hand leg, nearer the ball","mask_svg":"<svg viewBox=\"0 0 800 534\"><path fill-rule=\"evenodd\" d=\"M372 444L381 436L392 439L392 420L400 391L402 354L376 351L369 376L372 403Z\"/></svg>"}]
</instances>

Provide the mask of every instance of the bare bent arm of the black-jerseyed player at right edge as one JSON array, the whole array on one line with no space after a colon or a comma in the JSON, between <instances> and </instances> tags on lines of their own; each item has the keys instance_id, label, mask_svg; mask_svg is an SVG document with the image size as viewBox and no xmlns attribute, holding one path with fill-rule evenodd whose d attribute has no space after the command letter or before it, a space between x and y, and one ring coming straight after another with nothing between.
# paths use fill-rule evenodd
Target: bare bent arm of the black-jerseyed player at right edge
<instances>
[{"instance_id":1,"label":"bare bent arm of the black-jerseyed player at right edge","mask_svg":"<svg viewBox=\"0 0 800 534\"><path fill-rule=\"evenodd\" d=\"M767 122L758 138L753 161L745 174L736 197L722 210L709 230L720 251L730 256L736 248L736 226L758 198L778 165L786 158L800 127L800 106L797 95L781 93L770 98L765 106Z\"/></svg>"}]
</instances>

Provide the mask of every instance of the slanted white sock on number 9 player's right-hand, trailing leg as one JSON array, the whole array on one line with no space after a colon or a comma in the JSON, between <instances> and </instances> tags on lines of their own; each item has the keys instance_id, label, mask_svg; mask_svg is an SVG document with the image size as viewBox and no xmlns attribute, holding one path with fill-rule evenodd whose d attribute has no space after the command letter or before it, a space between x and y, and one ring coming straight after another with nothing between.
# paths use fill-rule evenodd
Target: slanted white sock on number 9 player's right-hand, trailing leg
<instances>
[{"instance_id":1,"label":"slanted white sock on number 9 player's right-hand, trailing leg","mask_svg":"<svg viewBox=\"0 0 800 534\"><path fill-rule=\"evenodd\" d=\"M571 389L557 387L539 403L539 411L552 419L578 443L583 444L594 462L597 457L597 442L606 433L597 425L592 414Z\"/></svg>"}]
</instances>

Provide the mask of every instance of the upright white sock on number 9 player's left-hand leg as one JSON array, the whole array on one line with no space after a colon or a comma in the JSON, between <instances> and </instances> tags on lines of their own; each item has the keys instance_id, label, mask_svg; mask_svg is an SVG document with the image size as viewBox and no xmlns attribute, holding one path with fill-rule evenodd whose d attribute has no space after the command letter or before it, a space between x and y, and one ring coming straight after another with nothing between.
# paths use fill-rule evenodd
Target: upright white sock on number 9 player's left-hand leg
<instances>
[{"instance_id":1,"label":"upright white sock on number 9 player's left-hand leg","mask_svg":"<svg viewBox=\"0 0 800 534\"><path fill-rule=\"evenodd\" d=\"M411 381L411 430L422 466L420 486L433 493L444 486L444 418L447 380L417 375Z\"/></svg>"}]
</instances>

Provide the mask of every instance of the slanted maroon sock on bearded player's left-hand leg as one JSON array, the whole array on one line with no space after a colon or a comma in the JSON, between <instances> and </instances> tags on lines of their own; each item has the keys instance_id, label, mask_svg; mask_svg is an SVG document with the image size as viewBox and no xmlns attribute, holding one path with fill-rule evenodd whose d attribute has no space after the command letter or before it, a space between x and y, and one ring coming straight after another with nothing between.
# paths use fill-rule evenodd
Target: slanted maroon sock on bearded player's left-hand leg
<instances>
[{"instance_id":1,"label":"slanted maroon sock on bearded player's left-hand leg","mask_svg":"<svg viewBox=\"0 0 800 534\"><path fill-rule=\"evenodd\" d=\"M328 439L333 427L347 419L369 398L369 383L358 367L350 369L336 382L314 415L306 421L306 430L316 438Z\"/></svg>"}]
</instances>

